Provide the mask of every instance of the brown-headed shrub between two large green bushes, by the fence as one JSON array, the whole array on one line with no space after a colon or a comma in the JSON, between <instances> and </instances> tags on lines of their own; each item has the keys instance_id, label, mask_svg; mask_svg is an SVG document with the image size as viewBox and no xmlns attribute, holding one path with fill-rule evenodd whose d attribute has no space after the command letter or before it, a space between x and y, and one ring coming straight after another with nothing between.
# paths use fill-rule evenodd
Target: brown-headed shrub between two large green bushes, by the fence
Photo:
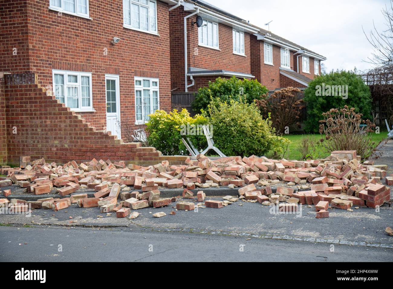
<instances>
[{"instance_id":1,"label":"brown-headed shrub between two large green bushes, by the fence","mask_svg":"<svg viewBox=\"0 0 393 289\"><path fill-rule=\"evenodd\" d=\"M273 126L278 134L285 132L285 127L290 127L294 123L300 128L298 122L303 99L298 99L299 88L287 87L276 90L267 99L257 100L257 107L261 110L264 118L270 114Z\"/></svg>"}]
</instances>

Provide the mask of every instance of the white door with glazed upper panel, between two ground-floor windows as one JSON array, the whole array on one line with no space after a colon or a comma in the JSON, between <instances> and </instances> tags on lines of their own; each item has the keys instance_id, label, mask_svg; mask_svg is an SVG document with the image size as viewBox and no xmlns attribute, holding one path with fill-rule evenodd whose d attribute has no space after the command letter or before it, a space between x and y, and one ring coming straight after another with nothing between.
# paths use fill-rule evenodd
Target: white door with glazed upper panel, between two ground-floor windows
<instances>
[{"instance_id":1,"label":"white door with glazed upper panel, between two ground-floor windows","mask_svg":"<svg viewBox=\"0 0 393 289\"><path fill-rule=\"evenodd\" d=\"M105 94L107 105L107 131L121 139L119 75L105 74Z\"/></svg>"}]
</instances>

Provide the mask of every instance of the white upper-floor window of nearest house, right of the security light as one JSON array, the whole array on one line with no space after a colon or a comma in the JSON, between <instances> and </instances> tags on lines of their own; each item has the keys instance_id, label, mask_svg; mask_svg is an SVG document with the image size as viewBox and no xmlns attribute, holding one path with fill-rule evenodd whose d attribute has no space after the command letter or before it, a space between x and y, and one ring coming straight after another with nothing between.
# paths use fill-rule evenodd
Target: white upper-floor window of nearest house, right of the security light
<instances>
[{"instance_id":1,"label":"white upper-floor window of nearest house, right of the security light","mask_svg":"<svg viewBox=\"0 0 393 289\"><path fill-rule=\"evenodd\" d=\"M158 34L156 0L123 0L124 27Z\"/></svg>"}]
</instances>

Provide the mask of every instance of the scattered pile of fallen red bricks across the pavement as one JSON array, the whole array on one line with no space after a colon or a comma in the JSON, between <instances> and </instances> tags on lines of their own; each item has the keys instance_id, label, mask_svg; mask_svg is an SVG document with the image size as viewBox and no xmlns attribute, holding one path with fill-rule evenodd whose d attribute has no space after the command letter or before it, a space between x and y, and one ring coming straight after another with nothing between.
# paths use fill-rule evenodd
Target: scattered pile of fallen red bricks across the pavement
<instances>
[{"instance_id":1,"label":"scattered pile of fallen red bricks across the pavement","mask_svg":"<svg viewBox=\"0 0 393 289\"><path fill-rule=\"evenodd\" d=\"M20 168L1 167L0 174L7 178L0 179L0 187L14 183L35 195L44 195L56 188L59 198L0 199L0 206L8 206L15 212L25 212L29 206L56 211L75 203L79 207L99 207L102 213L116 212L117 217L133 219L139 214L131 210L168 206L179 198L191 201L177 202L173 208L189 211L195 207L222 208L240 199L266 206L279 204L283 211L296 210L297 204L315 205L316 217L322 218L329 216L329 206L352 211L352 206L376 208L389 202L390 188L381 184L386 170L387 166L376 166L373 161L361 164L356 151L333 151L326 159L307 161L272 160L264 156L210 160L198 155L196 160L187 159L185 165L170 166L168 161L163 161L147 167L95 159L79 165L70 161L59 166L53 162L48 164L44 159L30 162L29 156L22 156ZM393 175L386 177L387 185L392 185L392 181ZM282 183L287 186L277 186L273 193L271 185ZM239 188L239 196L205 201L203 191L199 190L196 197L191 191L219 186ZM289 186L297 186L298 190ZM131 187L141 193L132 191ZM79 188L95 190L94 197L75 193ZM161 198L162 188L182 188L183 193L178 197ZM11 191L4 190L3 194L9 197ZM195 204L194 199L199 203ZM154 214L155 217L163 215L163 212Z\"/></svg>"}]
</instances>

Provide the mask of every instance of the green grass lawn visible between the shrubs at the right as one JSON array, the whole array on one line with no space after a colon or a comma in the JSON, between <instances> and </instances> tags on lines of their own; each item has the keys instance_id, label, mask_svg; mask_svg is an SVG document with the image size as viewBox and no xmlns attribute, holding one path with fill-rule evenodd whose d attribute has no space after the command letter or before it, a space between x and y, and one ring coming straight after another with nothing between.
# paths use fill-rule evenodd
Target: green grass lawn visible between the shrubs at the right
<instances>
[{"instance_id":1,"label":"green grass lawn visible between the shrubs at the right","mask_svg":"<svg viewBox=\"0 0 393 289\"><path fill-rule=\"evenodd\" d=\"M371 139L375 142L375 146L377 146L382 140L387 137L386 131L381 131L379 134L373 133ZM320 134L311 134L312 138L314 138L315 142L318 142L321 139ZM287 160L301 160L301 153L298 150L298 145L301 142L301 138L303 137L302 134L290 134L290 135L283 135L283 137L288 138L291 143L288 145L288 150L286 151L284 158ZM321 147L318 150L318 158L325 158L330 153L326 153L323 151ZM272 157L272 153L267 154L268 157Z\"/></svg>"}]
</instances>

